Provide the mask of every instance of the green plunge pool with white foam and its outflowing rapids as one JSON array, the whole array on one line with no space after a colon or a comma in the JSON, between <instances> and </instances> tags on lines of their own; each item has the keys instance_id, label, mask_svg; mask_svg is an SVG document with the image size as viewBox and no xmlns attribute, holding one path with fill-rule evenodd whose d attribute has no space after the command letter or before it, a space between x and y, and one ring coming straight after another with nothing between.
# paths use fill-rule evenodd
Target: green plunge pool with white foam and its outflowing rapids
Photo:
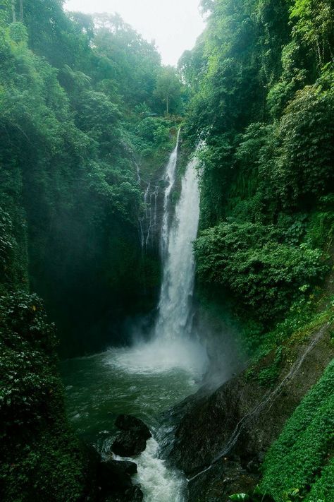
<instances>
[{"instance_id":1,"label":"green plunge pool with white foam and its outflowing rapids","mask_svg":"<svg viewBox=\"0 0 334 502\"><path fill-rule=\"evenodd\" d=\"M185 479L159 458L160 416L196 392L206 360L202 347L189 340L112 348L61 364L68 417L78 435L111 457L118 414L132 414L151 429L147 449L134 460L135 482L145 502L181 502ZM159 441L159 439L158 439Z\"/></svg>"}]
</instances>

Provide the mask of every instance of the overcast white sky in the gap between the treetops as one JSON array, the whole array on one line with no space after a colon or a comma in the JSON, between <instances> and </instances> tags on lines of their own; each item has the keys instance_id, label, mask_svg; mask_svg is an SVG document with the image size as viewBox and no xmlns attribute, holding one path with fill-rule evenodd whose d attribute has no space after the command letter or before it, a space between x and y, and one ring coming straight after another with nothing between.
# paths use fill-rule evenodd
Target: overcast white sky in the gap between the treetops
<instances>
[{"instance_id":1,"label":"overcast white sky in the gap between the treetops","mask_svg":"<svg viewBox=\"0 0 334 502\"><path fill-rule=\"evenodd\" d=\"M118 12L146 40L155 40L163 64L176 65L204 30L199 0L67 0L67 11Z\"/></svg>"}]
</instances>

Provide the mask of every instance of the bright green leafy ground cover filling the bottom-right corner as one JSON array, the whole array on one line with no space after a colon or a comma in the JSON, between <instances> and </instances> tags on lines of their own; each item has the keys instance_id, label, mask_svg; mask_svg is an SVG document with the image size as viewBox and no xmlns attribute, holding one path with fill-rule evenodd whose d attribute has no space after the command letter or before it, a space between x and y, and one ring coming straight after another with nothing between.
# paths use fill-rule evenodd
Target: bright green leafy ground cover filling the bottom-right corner
<instances>
[{"instance_id":1,"label":"bright green leafy ground cover filling the bottom-right corner","mask_svg":"<svg viewBox=\"0 0 334 502\"><path fill-rule=\"evenodd\" d=\"M317 500L316 494L324 501L333 500L333 472L330 473L334 430L334 395L330 389L333 387L334 361L302 400L266 455L260 487L277 502L285 500L284 492L291 486L298 486L307 501Z\"/></svg>"}]
</instances>

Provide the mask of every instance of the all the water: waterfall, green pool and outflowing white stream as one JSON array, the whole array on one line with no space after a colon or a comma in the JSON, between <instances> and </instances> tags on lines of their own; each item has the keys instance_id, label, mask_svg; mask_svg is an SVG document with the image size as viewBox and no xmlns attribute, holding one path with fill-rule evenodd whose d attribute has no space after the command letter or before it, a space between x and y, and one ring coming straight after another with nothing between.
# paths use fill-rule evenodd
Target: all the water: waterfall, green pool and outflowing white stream
<instances>
[{"instance_id":1,"label":"all the water: waterfall, green pool and outflowing white stream","mask_svg":"<svg viewBox=\"0 0 334 502\"><path fill-rule=\"evenodd\" d=\"M197 160L187 165L173 218L169 208L178 140L164 177L163 282L151 340L113 348L94 357L72 359L62 368L70 419L79 434L94 443L102 455L111 454L116 436L113 423L118 414L133 414L149 425L154 437L147 442L144 453L135 458L136 480L142 485L146 502L183 501L185 479L159 457L159 414L194 393L206 367L205 351L192 329L192 241L199 222ZM150 220L154 221L154 217L152 213Z\"/></svg>"}]
</instances>

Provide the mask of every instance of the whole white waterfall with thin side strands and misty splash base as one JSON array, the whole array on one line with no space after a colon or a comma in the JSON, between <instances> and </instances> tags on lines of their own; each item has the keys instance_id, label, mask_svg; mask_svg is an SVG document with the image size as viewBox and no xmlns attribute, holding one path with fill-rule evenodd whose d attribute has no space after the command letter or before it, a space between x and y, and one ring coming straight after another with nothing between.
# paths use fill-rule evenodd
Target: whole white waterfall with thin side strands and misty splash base
<instances>
[{"instance_id":1,"label":"whole white waterfall with thin side strands and misty splash base","mask_svg":"<svg viewBox=\"0 0 334 502\"><path fill-rule=\"evenodd\" d=\"M195 264L192 243L197 237L199 224L198 160L194 157L187 165L182 179L180 199L171 211L170 196L175 184L175 169L178 159L178 143L171 153L164 179L166 189L161 217L161 261L163 280L160 290L158 315L150 340L140 331L134 331L135 344L118 354L118 363L127 371L160 373L183 369L202 374L207 365L206 350L197 339L192 325L192 296L194 290ZM144 199L147 204L146 219L149 223L147 241L158 225L156 214L158 187L147 187ZM171 215L173 214L173 217ZM151 227L151 229L150 229ZM147 228L147 227L146 227ZM144 241L142 241L145 246Z\"/></svg>"}]
</instances>

